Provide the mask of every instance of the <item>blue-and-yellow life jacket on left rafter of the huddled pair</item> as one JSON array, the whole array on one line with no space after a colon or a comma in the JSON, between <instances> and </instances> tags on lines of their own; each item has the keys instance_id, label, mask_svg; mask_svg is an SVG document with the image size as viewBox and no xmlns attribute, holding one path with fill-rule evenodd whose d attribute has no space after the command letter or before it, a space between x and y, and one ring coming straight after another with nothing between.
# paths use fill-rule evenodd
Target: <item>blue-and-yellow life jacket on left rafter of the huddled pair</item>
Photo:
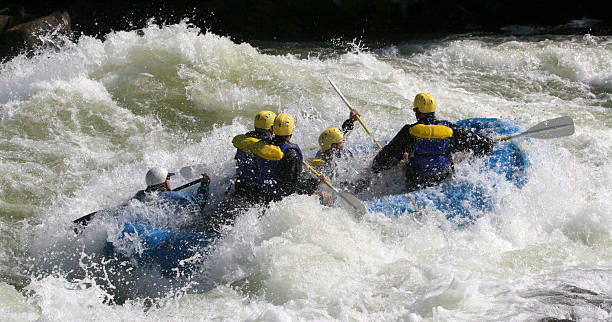
<instances>
[{"instance_id":1,"label":"blue-and-yellow life jacket on left rafter of the huddled pair","mask_svg":"<svg viewBox=\"0 0 612 322\"><path fill-rule=\"evenodd\" d=\"M257 185L257 163L251 152L251 147L259 142L254 131L236 135L232 144L237 149L236 160L236 191L252 189Z\"/></svg>"}]
</instances>

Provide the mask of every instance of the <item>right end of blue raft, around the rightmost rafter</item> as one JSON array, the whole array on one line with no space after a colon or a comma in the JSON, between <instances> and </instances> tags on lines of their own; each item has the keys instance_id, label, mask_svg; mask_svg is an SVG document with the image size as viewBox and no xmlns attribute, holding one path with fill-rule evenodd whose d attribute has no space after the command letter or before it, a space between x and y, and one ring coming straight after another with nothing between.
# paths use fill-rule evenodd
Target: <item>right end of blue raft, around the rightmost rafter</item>
<instances>
[{"instance_id":1,"label":"right end of blue raft, around the rightmost rafter","mask_svg":"<svg viewBox=\"0 0 612 322\"><path fill-rule=\"evenodd\" d=\"M465 119L455 124L490 137L513 135L521 130L521 127L512 121L493 118ZM527 182L526 170L529 166L526 151L520 146L523 140L497 143L493 152L484 157L484 164L479 171L483 174L497 173L504 180L522 187ZM490 186L485 186L477 180L453 178L438 186L409 194L370 199L367 207L369 211L390 216L428 208L437 209L444 213L447 219L463 225L492 209L494 200L490 189Z\"/></svg>"}]
</instances>

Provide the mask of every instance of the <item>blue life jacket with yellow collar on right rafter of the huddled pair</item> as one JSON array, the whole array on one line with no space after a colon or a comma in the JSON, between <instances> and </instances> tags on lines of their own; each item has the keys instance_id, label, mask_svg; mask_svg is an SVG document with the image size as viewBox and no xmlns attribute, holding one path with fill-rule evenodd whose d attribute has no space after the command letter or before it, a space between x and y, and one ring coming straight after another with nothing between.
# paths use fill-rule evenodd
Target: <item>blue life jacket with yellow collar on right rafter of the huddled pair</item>
<instances>
[{"instance_id":1,"label":"blue life jacket with yellow collar on right rafter of the huddled pair","mask_svg":"<svg viewBox=\"0 0 612 322\"><path fill-rule=\"evenodd\" d=\"M278 180L278 165L284 157L285 151L295 149L300 156L300 164L302 163L302 150L297 144L285 142L280 146L270 143L270 139L263 139L253 146L252 152L257 160L257 183L260 193L270 197L283 197L283 183Z\"/></svg>"}]
</instances>

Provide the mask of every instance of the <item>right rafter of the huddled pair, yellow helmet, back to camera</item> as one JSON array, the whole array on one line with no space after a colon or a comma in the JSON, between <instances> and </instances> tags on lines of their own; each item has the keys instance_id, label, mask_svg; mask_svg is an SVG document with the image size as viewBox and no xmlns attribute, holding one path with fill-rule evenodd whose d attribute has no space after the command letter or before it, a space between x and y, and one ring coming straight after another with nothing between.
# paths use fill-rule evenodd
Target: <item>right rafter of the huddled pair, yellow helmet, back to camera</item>
<instances>
[{"instance_id":1,"label":"right rafter of the huddled pair, yellow helmet, back to camera","mask_svg":"<svg viewBox=\"0 0 612 322\"><path fill-rule=\"evenodd\" d=\"M291 143L294 129L291 114L278 114L274 119L274 137L259 141L251 149L259 169L257 191L266 203L294 193L311 195L327 180L325 175L318 179L302 177L302 151Z\"/></svg>"}]
</instances>

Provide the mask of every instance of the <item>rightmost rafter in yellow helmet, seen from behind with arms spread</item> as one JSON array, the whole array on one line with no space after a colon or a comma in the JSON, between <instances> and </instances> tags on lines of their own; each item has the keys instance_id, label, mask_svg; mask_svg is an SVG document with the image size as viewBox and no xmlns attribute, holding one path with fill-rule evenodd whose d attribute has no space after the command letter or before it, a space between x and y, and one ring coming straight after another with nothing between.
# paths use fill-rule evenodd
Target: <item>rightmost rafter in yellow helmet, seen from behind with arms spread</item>
<instances>
[{"instance_id":1,"label":"rightmost rafter in yellow helmet, seen from behind with arms spread","mask_svg":"<svg viewBox=\"0 0 612 322\"><path fill-rule=\"evenodd\" d=\"M417 122L405 125L378 152L372 163L375 173L407 161L406 189L410 192L448 179L454 170L452 153L472 151L478 156L491 153L491 139L436 119L433 95L417 94L413 106Z\"/></svg>"}]
</instances>

